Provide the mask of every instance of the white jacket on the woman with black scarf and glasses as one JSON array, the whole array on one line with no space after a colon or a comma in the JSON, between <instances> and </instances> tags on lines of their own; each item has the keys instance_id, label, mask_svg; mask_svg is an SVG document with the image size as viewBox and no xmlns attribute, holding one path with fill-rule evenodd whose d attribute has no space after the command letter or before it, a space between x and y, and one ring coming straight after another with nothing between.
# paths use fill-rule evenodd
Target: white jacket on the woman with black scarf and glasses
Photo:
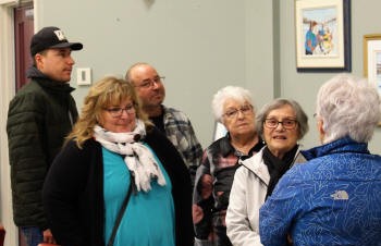
<instances>
[{"instance_id":1,"label":"white jacket on the woman with black scarf and glasses","mask_svg":"<svg viewBox=\"0 0 381 246\"><path fill-rule=\"evenodd\" d=\"M265 147L266 148L266 147ZM234 175L226 212L226 234L234 246L260 246L259 208L265 204L270 174L263 149L241 162ZM306 160L296 151L294 163Z\"/></svg>"}]
</instances>

